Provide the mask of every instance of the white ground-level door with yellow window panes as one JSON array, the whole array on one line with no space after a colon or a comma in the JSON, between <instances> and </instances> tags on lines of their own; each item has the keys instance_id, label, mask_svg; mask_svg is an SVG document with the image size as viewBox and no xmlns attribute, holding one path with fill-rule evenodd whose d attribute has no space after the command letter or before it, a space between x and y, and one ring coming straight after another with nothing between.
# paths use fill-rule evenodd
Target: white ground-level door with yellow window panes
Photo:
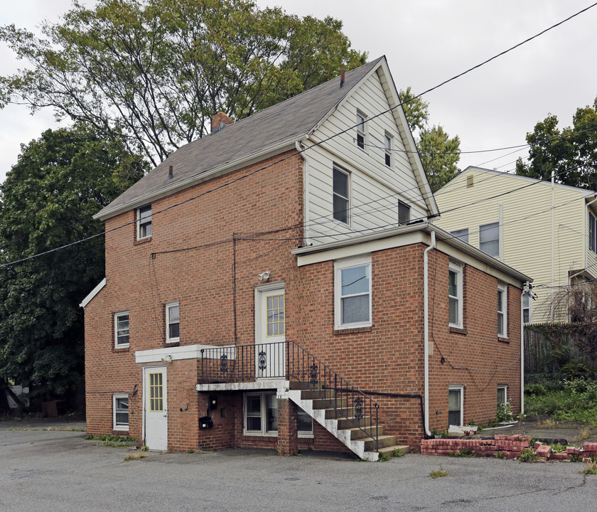
<instances>
[{"instance_id":1,"label":"white ground-level door with yellow window panes","mask_svg":"<svg viewBox=\"0 0 597 512\"><path fill-rule=\"evenodd\" d=\"M168 400L166 366L144 368L143 396L145 444L149 449L168 449Z\"/></svg>"}]
</instances>

